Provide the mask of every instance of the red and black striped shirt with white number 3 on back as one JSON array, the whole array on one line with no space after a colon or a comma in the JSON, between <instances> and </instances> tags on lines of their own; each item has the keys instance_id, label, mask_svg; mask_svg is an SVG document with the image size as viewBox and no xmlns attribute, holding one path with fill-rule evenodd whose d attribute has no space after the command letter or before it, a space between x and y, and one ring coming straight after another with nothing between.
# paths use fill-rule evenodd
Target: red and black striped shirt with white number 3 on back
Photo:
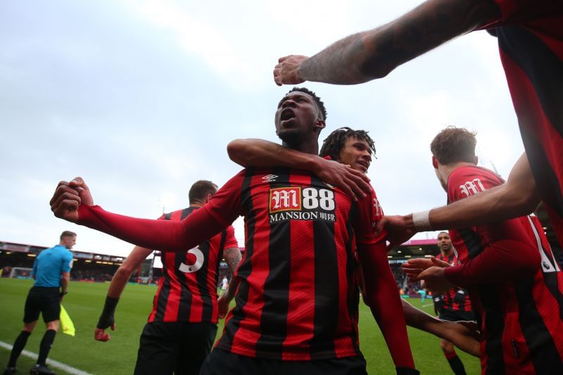
<instances>
[{"instance_id":1,"label":"red and black striped shirt with white number 3 on back","mask_svg":"<svg viewBox=\"0 0 563 375\"><path fill-rule=\"evenodd\" d=\"M196 208L189 207L159 217L184 220ZM148 322L217 323L217 269L225 248L238 247L229 226L187 253L161 251L163 276L153 299Z\"/></svg>"}]
</instances>

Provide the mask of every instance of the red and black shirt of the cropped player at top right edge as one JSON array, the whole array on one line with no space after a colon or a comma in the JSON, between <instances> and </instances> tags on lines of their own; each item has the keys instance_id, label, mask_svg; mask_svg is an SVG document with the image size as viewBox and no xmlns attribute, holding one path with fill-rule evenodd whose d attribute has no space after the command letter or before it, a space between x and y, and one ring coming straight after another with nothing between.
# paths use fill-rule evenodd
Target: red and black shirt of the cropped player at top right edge
<instances>
[{"instance_id":1,"label":"red and black shirt of the cropped player at top right edge","mask_svg":"<svg viewBox=\"0 0 563 375\"><path fill-rule=\"evenodd\" d=\"M495 0L498 37L526 155L563 246L563 1Z\"/></svg>"}]
</instances>

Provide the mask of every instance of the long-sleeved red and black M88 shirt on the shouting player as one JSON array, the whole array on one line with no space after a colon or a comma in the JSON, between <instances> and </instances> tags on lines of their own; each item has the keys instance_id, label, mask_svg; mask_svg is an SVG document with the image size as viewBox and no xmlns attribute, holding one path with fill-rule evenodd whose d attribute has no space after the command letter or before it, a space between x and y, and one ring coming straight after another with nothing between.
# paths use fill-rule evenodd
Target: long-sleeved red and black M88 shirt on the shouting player
<instances>
[{"instance_id":1,"label":"long-sleeved red and black M88 shirt on the shouting player","mask_svg":"<svg viewBox=\"0 0 563 375\"><path fill-rule=\"evenodd\" d=\"M369 275L366 298L393 362L414 367L385 241L372 230L377 206L374 193L354 203L309 172L280 168L239 172L182 222L135 219L87 205L80 205L77 222L146 248L179 251L243 215L246 248L236 307L216 347L248 357L360 355L359 255Z\"/></svg>"}]
</instances>

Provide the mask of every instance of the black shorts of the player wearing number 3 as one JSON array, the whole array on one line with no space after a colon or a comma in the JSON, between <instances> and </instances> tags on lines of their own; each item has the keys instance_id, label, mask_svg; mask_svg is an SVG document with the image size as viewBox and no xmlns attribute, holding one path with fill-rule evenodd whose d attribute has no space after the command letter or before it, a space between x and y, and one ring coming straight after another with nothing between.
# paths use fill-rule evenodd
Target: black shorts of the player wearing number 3
<instances>
[{"instance_id":1,"label":"black shorts of the player wearing number 3","mask_svg":"<svg viewBox=\"0 0 563 375\"><path fill-rule=\"evenodd\" d=\"M139 341L135 375L197 375L213 348L217 324L151 322Z\"/></svg>"}]
</instances>

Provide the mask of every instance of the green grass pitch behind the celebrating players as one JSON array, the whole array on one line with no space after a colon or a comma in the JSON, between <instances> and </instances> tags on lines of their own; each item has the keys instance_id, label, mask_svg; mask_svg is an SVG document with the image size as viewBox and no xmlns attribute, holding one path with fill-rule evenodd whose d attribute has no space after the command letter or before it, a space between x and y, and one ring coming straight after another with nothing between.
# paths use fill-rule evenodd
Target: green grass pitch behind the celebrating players
<instances>
[{"instance_id":1,"label":"green grass pitch behind the celebrating players","mask_svg":"<svg viewBox=\"0 0 563 375\"><path fill-rule=\"evenodd\" d=\"M0 341L13 344L23 326L23 306L31 280L0 279ZM63 305L76 327L76 336L58 332L49 358L63 362L91 374L132 374L137 357L139 336L148 313L151 312L154 286L128 285L115 313L116 330L111 332L107 343L94 341L94 327L103 307L108 284L71 282ZM419 299L410 300L420 307ZM431 301L426 300L423 310L431 312ZM222 330L220 323L219 332ZM34 333L27 341L25 350L37 353L45 331L41 318ZM443 356L439 339L409 329L410 344L415 364L422 374L452 374ZM369 309L360 303L360 347L367 360L369 374L395 374L395 367L385 345L381 331L375 324ZM467 374L479 374L479 360L460 350ZM3 371L10 352L0 347L0 369ZM34 360L21 356L18 373L27 374ZM53 368L58 374L64 371Z\"/></svg>"}]
</instances>

